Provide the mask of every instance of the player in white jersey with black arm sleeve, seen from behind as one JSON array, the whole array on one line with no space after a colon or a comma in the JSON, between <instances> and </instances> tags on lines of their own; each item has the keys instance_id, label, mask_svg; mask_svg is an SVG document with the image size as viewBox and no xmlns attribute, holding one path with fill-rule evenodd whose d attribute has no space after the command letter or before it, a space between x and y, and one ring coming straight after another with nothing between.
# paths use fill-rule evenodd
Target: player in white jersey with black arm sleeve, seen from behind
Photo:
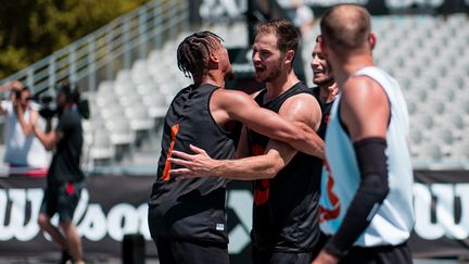
<instances>
[{"instance_id":1,"label":"player in white jersey with black arm sleeve, seen from behind","mask_svg":"<svg viewBox=\"0 0 469 264\"><path fill-rule=\"evenodd\" d=\"M331 8L320 30L341 91L326 135L319 211L331 238L313 263L411 263L413 169L401 88L373 65L376 37L364 8Z\"/></svg>"}]
</instances>

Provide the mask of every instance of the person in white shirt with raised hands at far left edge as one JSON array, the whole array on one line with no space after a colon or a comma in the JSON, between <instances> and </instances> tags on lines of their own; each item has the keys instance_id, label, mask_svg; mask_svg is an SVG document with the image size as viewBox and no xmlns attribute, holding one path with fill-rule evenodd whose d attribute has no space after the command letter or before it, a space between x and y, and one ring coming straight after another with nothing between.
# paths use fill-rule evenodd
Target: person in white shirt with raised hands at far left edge
<instances>
[{"instance_id":1,"label":"person in white shirt with raised hands at far left edge","mask_svg":"<svg viewBox=\"0 0 469 264\"><path fill-rule=\"evenodd\" d=\"M46 123L37 105L29 102L30 92L22 83L13 80L0 86L0 92L5 90L10 90L10 100L0 103L0 114L7 117L4 162L10 165L9 175L45 177L49 159L33 134L33 125L45 127Z\"/></svg>"}]
</instances>

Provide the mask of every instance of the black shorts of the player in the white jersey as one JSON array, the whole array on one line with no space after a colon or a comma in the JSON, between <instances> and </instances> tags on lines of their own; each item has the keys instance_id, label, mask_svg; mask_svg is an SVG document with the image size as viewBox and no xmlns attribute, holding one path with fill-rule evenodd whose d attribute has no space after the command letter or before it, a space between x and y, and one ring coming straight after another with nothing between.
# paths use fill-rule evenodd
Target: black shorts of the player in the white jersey
<instances>
[{"instance_id":1,"label":"black shorts of the player in the white jersey","mask_svg":"<svg viewBox=\"0 0 469 264\"><path fill-rule=\"evenodd\" d=\"M407 243L372 248L354 247L340 264L408 264L413 263Z\"/></svg>"}]
</instances>

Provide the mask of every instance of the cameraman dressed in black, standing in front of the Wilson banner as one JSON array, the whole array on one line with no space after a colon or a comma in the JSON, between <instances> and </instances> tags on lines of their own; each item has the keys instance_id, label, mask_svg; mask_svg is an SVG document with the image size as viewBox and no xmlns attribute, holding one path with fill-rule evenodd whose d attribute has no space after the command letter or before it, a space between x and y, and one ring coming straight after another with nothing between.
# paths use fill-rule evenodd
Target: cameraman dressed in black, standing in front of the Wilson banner
<instances>
[{"instance_id":1,"label":"cameraman dressed in black, standing in front of the Wilson banner","mask_svg":"<svg viewBox=\"0 0 469 264\"><path fill-rule=\"evenodd\" d=\"M80 109L79 90L69 84L59 86L55 102L59 115L56 128L43 131L38 126L33 127L34 134L47 150L55 149L48 172L47 189L38 223L53 241L61 246L61 263L73 260L79 264L84 263L81 239L72 219L81 189L85 187L85 175L79 164L83 147L81 117L88 117L88 114ZM51 118L48 118L49 128L50 124ZM59 225L63 232L50 222L55 213L59 214Z\"/></svg>"}]
</instances>

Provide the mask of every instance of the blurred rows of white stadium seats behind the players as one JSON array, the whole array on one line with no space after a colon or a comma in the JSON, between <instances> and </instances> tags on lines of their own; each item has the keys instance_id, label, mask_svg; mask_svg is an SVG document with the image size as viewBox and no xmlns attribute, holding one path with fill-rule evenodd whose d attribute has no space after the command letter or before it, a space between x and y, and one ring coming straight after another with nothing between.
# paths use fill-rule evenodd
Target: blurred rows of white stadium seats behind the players
<instances>
[{"instance_id":1,"label":"blurred rows of white stadium seats behind the players","mask_svg":"<svg viewBox=\"0 0 469 264\"><path fill-rule=\"evenodd\" d=\"M469 164L469 20L464 14L446 18L430 15L373 16L378 42L378 66L401 84L410 115L410 149L417 167L429 164L462 167ZM228 47L244 46L248 32L243 23L217 24L208 28L225 39ZM310 53L319 33L318 25L303 36L305 83L312 84ZM101 83L93 113L104 123L88 134L101 141L92 156L115 154L111 146L130 143L140 131L161 129L162 118L174 96L191 83L176 63L177 40L137 60L130 70L121 70L115 80ZM114 106L111 106L114 105ZM99 117L98 117L99 118ZM104 122L105 121L105 122ZM99 122L98 122L99 123ZM125 125L130 124L130 125ZM106 129L109 142L97 129ZM160 134L160 133L159 133ZM138 138L138 137L137 137ZM111 143L111 146L110 146ZM100 153L98 155L97 153Z\"/></svg>"}]
</instances>

